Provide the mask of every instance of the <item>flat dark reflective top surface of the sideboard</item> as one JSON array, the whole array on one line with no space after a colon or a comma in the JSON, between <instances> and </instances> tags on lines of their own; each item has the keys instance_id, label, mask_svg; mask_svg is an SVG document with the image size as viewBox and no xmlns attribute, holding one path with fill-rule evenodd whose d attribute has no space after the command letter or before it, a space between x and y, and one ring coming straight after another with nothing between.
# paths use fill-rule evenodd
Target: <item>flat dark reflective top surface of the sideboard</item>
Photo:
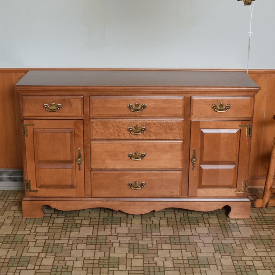
<instances>
[{"instance_id":1,"label":"flat dark reflective top surface of the sideboard","mask_svg":"<svg viewBox=\"0 0 275 275\"><path fill-rule=\"evenodd\" d=\"M30 70L15 86L224 87L260 90L244 72L195 70Z\"/></svg>"}]
</instances>

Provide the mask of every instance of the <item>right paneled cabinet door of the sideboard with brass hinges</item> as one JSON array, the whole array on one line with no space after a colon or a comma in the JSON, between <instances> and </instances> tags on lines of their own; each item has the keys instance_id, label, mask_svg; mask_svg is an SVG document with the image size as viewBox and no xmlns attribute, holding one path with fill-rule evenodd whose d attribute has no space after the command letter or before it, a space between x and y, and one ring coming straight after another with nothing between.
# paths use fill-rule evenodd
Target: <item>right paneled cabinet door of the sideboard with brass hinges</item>
<instances>
[{"instance_id":1,"label":"right paneled cabinet door of the sideboard with brass hinges","mask_svg":"<svg viewBox=\"0 0 275 275\"><path fill-rule=\"evenodd\" d=\"M247 197L249 121L192 121L189 196Z\"/></svg>"}]
</instances>

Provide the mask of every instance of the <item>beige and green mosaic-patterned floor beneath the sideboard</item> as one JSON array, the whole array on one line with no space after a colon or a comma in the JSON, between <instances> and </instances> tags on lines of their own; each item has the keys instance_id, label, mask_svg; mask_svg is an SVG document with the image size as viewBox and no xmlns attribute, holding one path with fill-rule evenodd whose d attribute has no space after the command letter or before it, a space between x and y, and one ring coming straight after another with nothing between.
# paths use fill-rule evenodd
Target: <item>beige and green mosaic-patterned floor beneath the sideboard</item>
<instances>
[{"instance_id":1,"label":"beige and green mosaic-patterned floor beneath the sideboard","mask_svg":"<svg viewBox=\"0 0 275 275\"><path fill-rule=\"evenodd\" d=\"M252 207L244 220L226 209L133 216L45 207L35 219L22 218L22 197L0 191L0 275L275 274L275 207Z\"/></svg>"}]
</instances>

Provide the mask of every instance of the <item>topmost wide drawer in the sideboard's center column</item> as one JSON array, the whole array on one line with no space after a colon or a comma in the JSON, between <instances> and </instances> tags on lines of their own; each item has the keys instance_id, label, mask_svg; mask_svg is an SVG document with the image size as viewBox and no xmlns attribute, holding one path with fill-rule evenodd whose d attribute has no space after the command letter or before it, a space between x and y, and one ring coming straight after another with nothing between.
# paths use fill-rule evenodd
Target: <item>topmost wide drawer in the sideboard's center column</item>
<instances>
[{"instance_id":1,"label":"topmost wide drawer in the sideboard's center column","mask_svg":"<svg viewBox=\"0 0 275 275\"><path fill-rule=\"evenodd\" d=\"M91 117L183 117L184 97L90 97Z\"/></svg>"}]
</instances>

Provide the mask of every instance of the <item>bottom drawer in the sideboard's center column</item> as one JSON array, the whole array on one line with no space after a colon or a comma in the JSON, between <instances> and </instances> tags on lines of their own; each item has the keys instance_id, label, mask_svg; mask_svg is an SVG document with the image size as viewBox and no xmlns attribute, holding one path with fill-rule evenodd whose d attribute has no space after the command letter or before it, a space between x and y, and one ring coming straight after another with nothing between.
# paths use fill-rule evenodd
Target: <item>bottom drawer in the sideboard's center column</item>
<instances>
[{"instance_id":1,"label":"bottom drawer in the sideboard's center column","mask_svg":"<svg viewBox=\"0 0 275 275\"><path fill-rule=\"evenodd\" d=\"M92 171L92 197L180 197L181 171Z\"/></svg>"}]
</instances>

